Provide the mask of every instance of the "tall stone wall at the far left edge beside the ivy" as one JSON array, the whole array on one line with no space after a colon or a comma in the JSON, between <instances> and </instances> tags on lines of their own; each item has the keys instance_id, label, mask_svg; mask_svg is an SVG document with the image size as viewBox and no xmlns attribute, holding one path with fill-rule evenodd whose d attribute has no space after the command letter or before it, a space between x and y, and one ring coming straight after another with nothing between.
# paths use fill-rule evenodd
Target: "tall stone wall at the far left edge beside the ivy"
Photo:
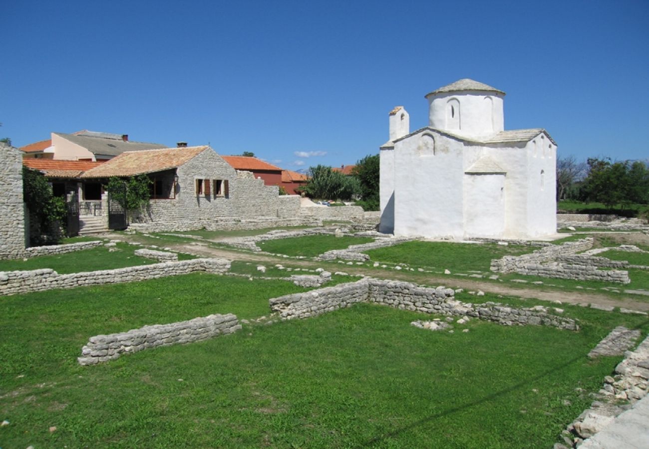
<instances>
[{"instance_id":1,"label":"tall stone wall at the far left edge beside the ivy","mask_svg":"<svg viewBox=\"0 0 649 449\"><path fill-rule=\"evenodd\" d=\"M0 259L16 259L25 251L23 156L0 143Z\"/></svg>"}]
</instances>

